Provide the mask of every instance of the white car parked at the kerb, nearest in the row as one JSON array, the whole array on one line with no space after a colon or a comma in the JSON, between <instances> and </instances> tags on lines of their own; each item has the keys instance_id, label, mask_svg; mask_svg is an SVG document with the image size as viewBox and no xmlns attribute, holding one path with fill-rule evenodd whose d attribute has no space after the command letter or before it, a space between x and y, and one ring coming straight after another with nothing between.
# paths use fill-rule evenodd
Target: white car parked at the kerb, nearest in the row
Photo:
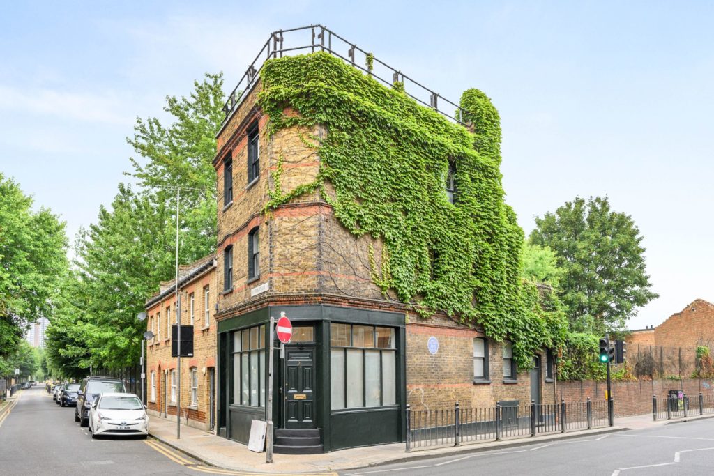
<instances>
[{"instance_id":1,"label":"white car parked at the kerb, nearest in the row","mask_svg":"<svg viewBox=\"0 0 714 476\"><path fill-rule=\"evenodd\" d=\"M149 415L134 393L102 393L89 410L91 437L149 435Z\"/></svg>"}]
</instances>

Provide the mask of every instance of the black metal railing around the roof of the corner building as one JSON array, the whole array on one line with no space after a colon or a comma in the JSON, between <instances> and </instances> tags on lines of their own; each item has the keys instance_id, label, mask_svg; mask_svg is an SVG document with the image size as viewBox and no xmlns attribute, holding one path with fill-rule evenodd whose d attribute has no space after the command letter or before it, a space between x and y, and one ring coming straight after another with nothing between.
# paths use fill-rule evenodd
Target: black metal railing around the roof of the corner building
<instances>
[{"instance_id":1,"label":"black metal railing around the roof of the corner building","mask_svg":"<svg viewBox=\"0 0 714 476\"><path fill-rule=\"evenodd\" d=\"M299 38L301 34L304 34L304 39ZM295 46L289 46L293 43L288 44L288 41L286 41L288 36L291 41L295 41ZM297 41L295 39L297 39ZM303 41L305 42L304 44L302 43ZM231 113L236 110L236 107L241 103L243 98L245 98L246 93L250 91L256 83L266 60L282 58L285 54L301 54L306 51L309 53L326 51L342 59L347 64L361 69L361 71L387 86L394 87L397 82L402 83L404 92L415 101L421 103L423 106L432 108L434 111L441 113L456 123L465 125L463 122L463 113L466 111L464 111L461 106L449 101L436 91L423 86L423 84L418 83L418 81L415 81L410 76L403 74L398 69L394 69L392 66L374 57L368 51L359 48L356 44L347 41L342 36L339 36L322 25L301 26L288 30L273 31L268 41L263 44L261 51L258 52L256 58L253 59L253 62L248 66L248 69L246 69L241 80L238 81L236 87L233 88L233 91L228 95L228 99L223 105L223 112L226 113L223 123L228 120ZM371 61L368 61L370 58ZM388 78L390 74L391 81L388 81L386 78ZM451 111L447 112L444 110L443 106L440 106L440 103L448 105L448 107L452 108Z\"/></svg>"}]
</instances>

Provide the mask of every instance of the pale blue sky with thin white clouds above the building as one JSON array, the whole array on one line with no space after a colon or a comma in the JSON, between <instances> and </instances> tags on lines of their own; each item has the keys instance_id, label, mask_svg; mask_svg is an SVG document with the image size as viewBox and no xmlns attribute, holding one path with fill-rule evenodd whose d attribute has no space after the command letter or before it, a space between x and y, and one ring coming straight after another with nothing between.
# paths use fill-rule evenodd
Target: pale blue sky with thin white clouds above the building
<instances>
[{"instance_id":1,"label":"pale blue sky with thin white clouds above the building","mask_svg":"<svg viewBox=\"0 0 714 476\"><path fill-rule=\"evenodd\" d=\"M74 237L126 181L137 116L205 72L240 79L276 29L324 24L503 126L526 232L575 196L630 214L660 298L631 328L714 302L714 4L665 1L4 2L0 171Z\"/></svg>"}]
</instances>

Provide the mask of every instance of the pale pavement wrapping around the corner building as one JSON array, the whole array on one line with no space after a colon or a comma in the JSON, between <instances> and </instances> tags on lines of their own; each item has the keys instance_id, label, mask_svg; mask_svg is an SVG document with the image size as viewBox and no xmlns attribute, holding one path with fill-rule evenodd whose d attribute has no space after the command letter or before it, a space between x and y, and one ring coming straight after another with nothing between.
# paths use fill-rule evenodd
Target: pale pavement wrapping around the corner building
<instances>
[{"instance_id":1,"label":"pale pavement wrapping around the corner building","mask_svg":"<svg viewBox=\"0 0 714 476\"><path fill-rule=\"evenodd\" d=\"M710 418L714 415L693 415L687 420ZM281 455L273 454L273 462L266 463L265 452L253 452L233 440L218 437L193 427L181 425L181 438L176 438L176 421L164 420L152 416L149 422L149 433L165 445L174 447L195 460L213 467L241 472L271 472L271 473L309 473L333 472L373 467L377 465L394 464L423 460L434 457L462 455L473 452L488 452L508 448L531 445L534 442L549 443L558 440L604 435L625 430L640 430L644 428L662 427L680 420L653 421L652 414L636 415L615 419L613 427L595 428L593 430L555 433L537 437L518 437L514 439L463 443L461 446L438 447L428 450L413 450L406 452L404 443L391 445L376 445L370 447L350 448L320 455Z\"/></svg>"}]
</instances>

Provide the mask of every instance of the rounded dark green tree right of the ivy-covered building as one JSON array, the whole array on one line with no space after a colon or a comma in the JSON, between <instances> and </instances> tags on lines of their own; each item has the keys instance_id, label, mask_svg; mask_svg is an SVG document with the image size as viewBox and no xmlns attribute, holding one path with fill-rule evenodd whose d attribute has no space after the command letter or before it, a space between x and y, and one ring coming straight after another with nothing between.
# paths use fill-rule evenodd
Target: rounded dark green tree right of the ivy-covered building
<instances>
[{"instance_id":1,"label":"rounded dark green tree right of the ivy-covered building","mask_svg":"<svg viewBox=\"0 0 714 476\"><path fill-rule=\"evenodd\" d=\"M570 330L623 330L628 318L657 297L650 291L643 237L632 218L610 210L608 198L577 197L535 218L531 243L548 246L563 268L559 295Z\"/></svg>"}]
</instances>

